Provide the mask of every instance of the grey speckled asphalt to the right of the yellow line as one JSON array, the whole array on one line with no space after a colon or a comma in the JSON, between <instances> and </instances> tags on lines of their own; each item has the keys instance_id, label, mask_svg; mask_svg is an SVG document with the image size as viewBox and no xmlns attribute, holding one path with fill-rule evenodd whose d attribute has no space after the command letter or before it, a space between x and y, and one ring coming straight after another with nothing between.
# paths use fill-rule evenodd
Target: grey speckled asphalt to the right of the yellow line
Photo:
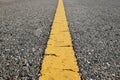
<instances>
[{"instance_id":1,"label":"grey speckled asphalt to the right of the yellow line","mask_svg":"<svg viewBox=\"0 0 120 80\"><path fill-rule=\"evenodd\" d=\"M63 0L83 80L120 80L120 0Z\"/></svg>"}]
</instances>

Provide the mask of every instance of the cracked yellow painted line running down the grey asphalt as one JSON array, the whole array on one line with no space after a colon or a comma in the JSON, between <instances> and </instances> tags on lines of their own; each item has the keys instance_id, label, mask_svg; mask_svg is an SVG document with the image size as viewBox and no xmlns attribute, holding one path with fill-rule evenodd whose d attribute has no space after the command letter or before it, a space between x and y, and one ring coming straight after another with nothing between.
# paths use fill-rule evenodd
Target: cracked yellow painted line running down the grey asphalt
<instances>
[{"instance_id":1,"label":"cracked yellow painted line running down the grey asphalt","mask_svg":"<svg viewBox=\"0 0 120 80\"><path fill-rule=\"evenodd\" d=\"M63 1L59 0L39 80L81 80Z\"/></svg>"}]
</instances>

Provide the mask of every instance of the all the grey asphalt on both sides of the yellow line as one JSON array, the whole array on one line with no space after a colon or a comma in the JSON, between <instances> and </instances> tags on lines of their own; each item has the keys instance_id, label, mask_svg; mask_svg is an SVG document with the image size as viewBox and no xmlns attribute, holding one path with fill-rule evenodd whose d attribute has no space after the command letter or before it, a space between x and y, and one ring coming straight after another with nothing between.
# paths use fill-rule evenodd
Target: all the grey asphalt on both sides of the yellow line
<instances>
[{"instance_id":1,"label":"all the grey asphalt on both sides of the yellow line","mask_svg":"<svg viewBox=\"0 0 120 80\"><path fill-rule=\"evenodd\" d=\"M120 80L120 1L63 0L82 80ZM58 0L0 0L0 80L37 80Z\"/></svg>"}]
</instances>

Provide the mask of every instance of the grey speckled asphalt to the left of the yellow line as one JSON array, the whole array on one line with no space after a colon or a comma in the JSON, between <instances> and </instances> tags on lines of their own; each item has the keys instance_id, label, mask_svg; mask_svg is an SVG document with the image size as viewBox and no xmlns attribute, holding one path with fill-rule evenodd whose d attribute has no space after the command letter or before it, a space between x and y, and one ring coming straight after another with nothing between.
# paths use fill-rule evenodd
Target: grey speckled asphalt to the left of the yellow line
<instances>
[{"instance_id":1,"label":"grey speckled asphalt to the left of the yellow line","mask_svg":"<svg viewBox=\"0 0 120 80\"><path fill-rule=\"evenodd\" d=\"M37 80L57 0L0 0L0 80Z\"/></svg>"}]
</instances>

